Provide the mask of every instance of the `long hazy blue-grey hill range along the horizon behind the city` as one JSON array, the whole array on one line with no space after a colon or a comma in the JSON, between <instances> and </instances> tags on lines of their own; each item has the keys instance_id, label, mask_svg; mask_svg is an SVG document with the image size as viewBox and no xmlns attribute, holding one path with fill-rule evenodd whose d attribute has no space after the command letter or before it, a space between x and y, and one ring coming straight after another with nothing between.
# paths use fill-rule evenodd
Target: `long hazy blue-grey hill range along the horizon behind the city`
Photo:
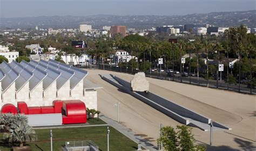
<instances>
[{"instance_id":1,"label":"long hazy blue-grey hill range along the horizon behind the city","mask_svg":"<svg viewBox=\"0 0 256 151\"><path fill-rule=\"evenodd\" d=\"M79 24L89 24L92 28L102 26L126 25L128 28L151 28L162 25L184 24L211 24L215 26L239 26L256 27L256 10L234 12L194 13L183 16L39 16L0 18L0 29L6 28L79 28Z\"/></svg>"}]
</instances>

